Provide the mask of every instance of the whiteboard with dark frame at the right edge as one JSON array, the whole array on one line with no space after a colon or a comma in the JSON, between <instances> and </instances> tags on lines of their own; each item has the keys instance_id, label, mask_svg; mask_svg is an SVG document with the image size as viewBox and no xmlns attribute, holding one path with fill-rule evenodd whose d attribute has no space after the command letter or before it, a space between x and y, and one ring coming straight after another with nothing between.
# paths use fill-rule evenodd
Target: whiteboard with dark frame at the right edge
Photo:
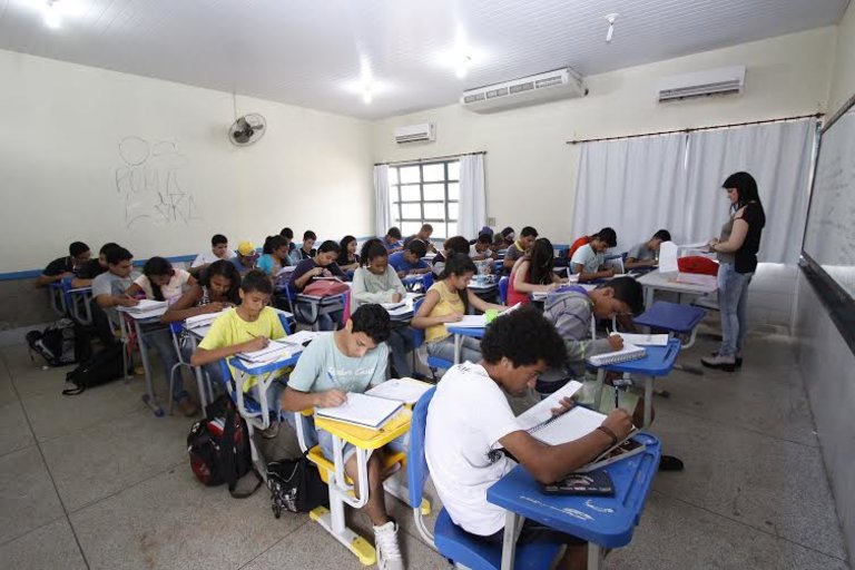
<instances>
[{"instance_id":1,"label":"whiteboard with dark frame at the right edge","mask_svg":"<svg viewBox=\"0 0 855 570\"><path fill-rule=\"evenodd\" d=\"M855 98L820 135L802 250L855 298Z\"/></svg>"}]
</instances>

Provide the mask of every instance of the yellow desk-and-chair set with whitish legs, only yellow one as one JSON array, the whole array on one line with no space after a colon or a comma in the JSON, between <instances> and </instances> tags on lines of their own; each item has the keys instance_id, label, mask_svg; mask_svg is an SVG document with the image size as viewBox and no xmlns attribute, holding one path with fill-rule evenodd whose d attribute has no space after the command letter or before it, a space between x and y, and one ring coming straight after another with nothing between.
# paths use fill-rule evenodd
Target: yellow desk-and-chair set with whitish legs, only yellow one
<instances>
[{"instance_id":1,"label":"yellow desk-and-chair set with whitish legs, only yellow one","mask_svg":"<svg viewBox=\"0 0 855 570\"><path fill-rule=\"evenodd\" d=\"M335 436L334 449L336 456L333 461L330 461L321 450L321 445L316 444L317 436L314 433L315 426L312 415L313 410L297 412L294 414L294 423L301 450L306 453L306 458L309 461L317 465L321 479L327 485L330 508L317 507L308 513L308 517L326 529L347 550L353 552L360 559L360 562L364 566L372 566L376 562L376 551L368 541L347 528L344 509L345 505L361 509L367 503L368 456L372 450L376 450L389 441L406 433L410 423L409 412L402 412L393 417L381 431L344 424L343 431L350 433L338 433L331 428L330 431ZM342 425L340 422L333 423ZM365 434L364 440L357 435L360 432ZM354 482L344 472L344 460L342 456L344 442L350 442L356 446L357 479L360 489L363 490L358 498L354 491ZM389 471L395 465L400 465L399 471L383 482L383 489L392 497L406 503L407 498L411 495L406 489L406 478L404 475L406 472L406 453L394 452L383 454L382 469L384 471ZM414 504L416 504L414 511L421 514L429 514L431 512L431 504L422 498Z\"/></svg>"}]
</instances>

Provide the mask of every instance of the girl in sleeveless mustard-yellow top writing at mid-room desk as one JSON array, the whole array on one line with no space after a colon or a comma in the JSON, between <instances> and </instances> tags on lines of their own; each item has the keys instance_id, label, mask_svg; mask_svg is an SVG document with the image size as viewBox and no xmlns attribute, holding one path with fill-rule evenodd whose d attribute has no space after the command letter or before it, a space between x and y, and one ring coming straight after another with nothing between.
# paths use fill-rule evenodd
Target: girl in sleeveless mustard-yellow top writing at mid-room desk
<instances>
[{"instance_id":1,"label":"girl in sleeveless mustard-yellow top writing at mid-room desk","mask_svg":"<svg viewBox=\"0 0 855 570\"><path fill-rule=\"evenodd\" d=\"M445 323L456 323L468 313L469 306L479 311L505 307L487 303L466 286L475 275L475 264L466 254L453 254L428 294L422 306L410 323L415 328L424 328L428 354L446 361L454 361L454 338L445 328ZM461 360L478 362L481 348L478 338L463 337Z\"/></svg>"}]
</instances>

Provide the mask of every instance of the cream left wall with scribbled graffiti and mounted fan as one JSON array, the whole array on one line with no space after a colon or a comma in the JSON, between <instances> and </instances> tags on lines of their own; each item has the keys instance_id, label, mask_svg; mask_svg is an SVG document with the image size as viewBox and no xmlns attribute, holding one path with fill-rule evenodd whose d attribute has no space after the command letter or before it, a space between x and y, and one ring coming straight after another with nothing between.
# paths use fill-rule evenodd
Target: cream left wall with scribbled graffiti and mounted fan
<instances>
[{"instance_id":1,"label":"cream left wall with scribbled graffiti and mounted fan","mask_svg":"<svg viewBox=\"0 0 855 570\"><path fill-rule=\"evenodd\" d=\"M336 239L372 232L365 121L238 97L237 112L264 115L267 134L237 148L226 137L230 94L9 51L0 51L0 273L42 267L73 239L95 249L115 240L149 257L197 253L215 233L261 246L286 225ZM177 149L135 169L132 215L156 214L156 187L174 191L177 183L197 219L128 227L130 179L119 154L128 136Z\"/></svg>"}]
</instances>

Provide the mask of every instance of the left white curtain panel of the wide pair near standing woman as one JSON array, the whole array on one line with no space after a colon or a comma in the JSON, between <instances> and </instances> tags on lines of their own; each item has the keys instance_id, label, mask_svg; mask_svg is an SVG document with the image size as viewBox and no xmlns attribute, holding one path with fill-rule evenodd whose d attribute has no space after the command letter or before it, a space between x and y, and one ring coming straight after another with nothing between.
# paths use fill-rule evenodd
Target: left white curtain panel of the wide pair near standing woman
<instances>
[{"instance_id":1,"label":"left white curtain panel of the wide pair near standing woman","mask_svg":"<svg viewBox=\"0 0 855 570\"><path fill-rule=\"evenodd\" d=\"M572 238L610 226L626 252L685 212L686 135L586 142ZM680 236L674 236L680 239Z\"/></svg>"}]
</instances>

